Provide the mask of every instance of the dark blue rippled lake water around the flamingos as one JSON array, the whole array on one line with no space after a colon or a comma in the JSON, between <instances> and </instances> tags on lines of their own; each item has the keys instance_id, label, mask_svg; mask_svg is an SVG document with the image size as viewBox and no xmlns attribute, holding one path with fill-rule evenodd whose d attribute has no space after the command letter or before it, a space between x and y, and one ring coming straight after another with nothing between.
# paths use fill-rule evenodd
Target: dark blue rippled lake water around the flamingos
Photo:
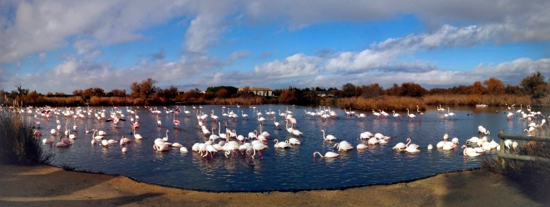
<instances>
[{"instance_id":1,"label":"dark blue rippled lake water around the flamingos","mask_svg":"<svg viewBox=\"0 0 550 207\"><path fill-rule=\"evenodd\" d=\"M249 106L227 106L239 115L237 121L226 120L221 115L221 106L202 106L202 111L210 114L211 110L221 117L222 125L227 122L230 129L237 130L239 135L248 135L248 132L259 130L259 122L253 109ZM144 137L141 141L134 140L127 146L128 152L122 153L121 146L114 144L104 148L98 144L91 145L91 135L84 133L84 124L88 128L95 128L107 132L106 139L119 140L122 135L131 136L131 121L129 112L125 107L120 108L127 121L118 124L105 122L104 119L95 117L75 119L78 126L75 132L77 138L72 146L67 148L55 148L44 145L44 148L55 154L53 164L57 166L71 166L76 170L102 172L113 175L125 175L153 184L174 186L176 188L210 190L210 191L267 191L267 190L306 190L320 188L347 188L352 186L365 186L372 184L389 184L398 181L428 177L440 172L467 170L480 166L479 157L464 157L462 150L427 150L428 144L437 144L442 140L443 134L448 133L450 138L458 137L459 146L466 139L477 136L477 126L482 125L491 131L489 141L497 139L499 130L506 133L523 134L527 128L527 121L507 121L504 108L460 108L452 109L457 114L456 120L439 119L443 112L434 108L424 112L423 118L418 117L409 121L407 112L398 112L405 115L400 121L391 117L388 119L374 119L371 112L363 112L366 120L345 116L344 110L333 108L338 119L312 119L305 115L304 110L315 111L319 108L303 106L265 105L256 106L257 110L264 113L272 110L277 113L277 121L281 123L279 129L275 128L272 119L264 121L262 130L271 134L266 144L268 149L262 152L262 157L256 155L255 159L239 155L226 158L223 155L214 155L213 159L200 157L199 153L192 152L191 146L196 142L204 142L205 137L196 119L196 110L187 106L191 113L189 116L176 117L181 121L177 129L172 124L173 115L162 111L159 119L163 122L161 127L156 124L156 116L145 108L133 108L140 117L140 128L137 133ZM279 110L293 112L297 119L296 128L304 134L300 137L301 145L292 148L276 149L273 147L273 139L283 141L292 137L285 130L285 122L278 115ZM175 108L175 106L169 107ZM198 107L197 107L198 108ZM101 108L95 108L100 110ZM107 117L111 108L107 110ZM183 107L181 108L183 110ZM226 108L226 112L228 110ZM248 120L241 117L241 110L248 114ZM497 112L498 110L498 112ZM516 109L517 110L517 109ZM360 113L360 111L356 111ZM473 114L473 115L468 115ZM265 117L265 116L264 116ZM41 121L41 130L44 137L50 137L49 130L55 128L55 117L45 119L38 116L34 121ZM69 128L73 126L73 119L59 117L64 126L67 121ZM218 124L207 122L208 128ZM313 152L333 150L337 141L323 141L322 132L334 135L337 141L346 140L354 146L347 152L339 152L340 156L333 159L313 159ZM183 144L189 152L180 152L177 148L167 152L156 152L152 146L154 139L165 137L165 131L169 130L169 141ZM392 137L386 145L376 145L366 150L356 150L356 145L365 143L359 138L361 132L380 132ZM217 134L217 130L214 132ZM43 137L43 138L44 138ZM410 137L412 143L419 144L421 152L416 154L396 152L392 150L398 142L405 142ZM132 137L133 138L133 137ZM59 137L51 137L59 139ZM496 151L488 152L496 155Z\"/></svg>"}]
</instances>

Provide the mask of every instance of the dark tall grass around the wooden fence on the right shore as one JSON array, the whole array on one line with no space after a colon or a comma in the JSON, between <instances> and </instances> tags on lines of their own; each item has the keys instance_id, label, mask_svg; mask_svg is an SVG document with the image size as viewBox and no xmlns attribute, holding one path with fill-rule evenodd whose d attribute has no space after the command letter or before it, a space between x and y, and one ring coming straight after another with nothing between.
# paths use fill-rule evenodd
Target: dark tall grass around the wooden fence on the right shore
<instances>
[{"instance_id":1,"label":"dark tall grass around the wooden fence on the right shore","mask_svg":"<svg viewBox=\"0 0 550 207\"><path fill-rule=\"evenodd\" d=\"M549 127L544 125L535 133L538 137L549 137ZM529 155L550 159L550 143L527 141L519 150L511 150L517 155ZM482 168L497 172L513 181L520 190L535 201L550 204L550 162L542 159L522 161L502 157L482 157Z\"/></svg>"}]
</instances>

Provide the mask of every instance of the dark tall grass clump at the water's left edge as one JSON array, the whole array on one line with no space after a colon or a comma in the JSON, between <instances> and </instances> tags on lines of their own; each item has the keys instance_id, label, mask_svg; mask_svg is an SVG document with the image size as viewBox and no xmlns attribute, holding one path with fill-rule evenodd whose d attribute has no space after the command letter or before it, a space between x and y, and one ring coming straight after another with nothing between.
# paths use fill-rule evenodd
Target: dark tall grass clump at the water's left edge
<instances>
[{"instance_id":1,"label":"dark tall grass clump at the water's left edge","mask_svg":"<svg viewBox=\"0 0 550 207\"><path fill-rule=\"evenodd\" d=\"M0 162L3 164L48 163L52 154L33 137L33 127L19 112L0 111Z\"/></svg>"}]
</instances>

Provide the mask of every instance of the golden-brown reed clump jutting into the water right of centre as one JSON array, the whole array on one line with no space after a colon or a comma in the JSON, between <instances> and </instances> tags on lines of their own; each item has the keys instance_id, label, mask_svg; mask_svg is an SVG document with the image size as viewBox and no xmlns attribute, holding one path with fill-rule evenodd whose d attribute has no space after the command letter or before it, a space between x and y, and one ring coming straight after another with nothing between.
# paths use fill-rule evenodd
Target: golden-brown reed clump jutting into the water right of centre
<instances>
[{"instance_id":1,"label":"golden-brown reed clump jutting into the water right of centre","mask_svg":"<svg viewBox=\"0 0 550 207\"><path fill-rule=\"evenodd\" d=\"M365 99L363 97L351 97L338 99L338 107L353 108L358 110L392 110L404 111L410 109L411 113L416 112L416 106L425 110L425 103L421 98L384 96L378 99Z\"/></svg>"}]
</instances>

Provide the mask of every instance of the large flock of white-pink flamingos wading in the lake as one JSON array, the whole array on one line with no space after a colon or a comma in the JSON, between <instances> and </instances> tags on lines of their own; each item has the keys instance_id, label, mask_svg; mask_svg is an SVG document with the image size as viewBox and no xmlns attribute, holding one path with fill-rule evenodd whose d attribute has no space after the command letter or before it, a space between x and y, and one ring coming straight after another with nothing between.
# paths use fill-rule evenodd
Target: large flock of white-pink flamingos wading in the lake
<instances>
[{"instance_id":1,"label":"large flock of white-pink flamingos wading in the lake","mask_svg":"<svg viewBox=\"0 0 550 207\"><path fill-rule=\"evenodd\" d=\"M185 130L185 128L192 127L189 126L189 124L186 124L188 121L185 121L184 123L184 121L180 120L180 113L184 115L183 119L192 119L192 116L189 116L191 112L187 111L185 106L183 106L183 111L180 110L179 107L175 109L164 107L163 111L159 110L157 107L146 106L145 108L146 110L139 110L139 112L141 113L140 115L147 115L148 111L149 116L154 116L154 121L156 123L141 123L142 125L156 125L159 129L166 128L168 126L164 126L160 118L163 116L171 116L172 123L174 124L173 130ZM268 141L270 141L271 139L273 139L272 142L274 143L273 148L278 148L280 150L296 148L297 145L302 144L302 142L304 141L313 141L309 139L304 140L304 137L320 137L322 138L322 141L319 139L321 143L335 142L333 144L333 152L325 152L324 155L322 155L321 152L313 153L313 157L318 154L320 155L320 157L325 158L337 157L338 153L336 152L344 153L354 148L356 148L357 150L367 150L368 148L388 144L392 141L391 137L382 135L381 133L373 134L371 132L360 133L357 136L358 142L356 144L351 144L349 140L342 140L341 138L337 139L336 136L328 134L325 129L320 129L320 132L322 132L322 134L304 135L304 133L301 132L297 127L298 121L295 118L295 113L291 110L288 110L288 107L286 108L286 110L279 110L279 112L277 113L271 109L260 111L255 106L250 106L249 112L245 112L245 110L242 110L240 107L232 110L229 107L222 106L220 117L216 115L217 110L215 109L212 109L210 110L210 112L207 113L202 110L201 106L199 106L199 108L192 106L192 108L193 110L195 110L194 113L196 115L197 127L199 127L200 129L199 132L201 132L201 134L205 137L205 140L196 142L192 146L191 150L198 153L201 157L209 157L210 159L214 159L214 156L217 155L222 155L226 158L237 157L237 155L250 157L251 159L255 159L256 157L259 158L262 157L262 150L266 150L268 148ZM522 105L520 105L520 110L517 110L514 113L513 107L508 107L506 108L505 115L506 119L510 121L513 121L514 117L517 117L517 120L526 121L526 123L528 124L524 129L524 132L526 132L527 135L532 135L538 130L538 128L544 126L544 124L546 123L546 119L544 119L544 116L542 116L541 112L531 111L530 106L526 106L526 108L528 112L524 112L522 110ZM238 110L241 110L240 113ZM437 107L437 110L439 112L445 113L441 116L442 119L457 120L457 115L452 112L450 108L443 108L440 105ZM351 108L349 108L349 110L344 109L344 111L345 119L356 118L359 121L367 121L367 115L365 115L364 113L355 112ZM79 134L79 130L82 130L82 128L79 128L77 124L82 123L85 124L85 126L83 127L85 128L85 130L83 131L85 131L86 134L92 132L91 139L89 139L90 143L92 145L100 145L105 149L113 148L118 144L120 145L120 150L123 153L128 153L131 152L131 146L134 144L134 142L154 139L152 143L152 148L154 151L163 152L176 148L181 152L187 152L187 148L183 146L183 144L172 142L172 140L169 139L169 130L165 130L165 137L159 136L156 139L155 137L145 137L144 139L144 137L142 137L137 132L140 128L140 115L138 115L138 110L133 110L131 107L127 107L126 110L126 112L129 114L131 121L131 124L129 125L129 136L127 137L125 135L107 135L107 133L105 132L105 130L108 130L111 127L117 128L120 126L125 126L123 124L120 124L120 121L126 121L125 112L122 110L122 108L116 106L113 106L110 109L105 109L103 107L28 107L26 108L26 110L21 110L20 112L27 112L30 116L34 116L35 121L33 121L33 123L35 124L35 127L37 129L33 131L33 135L37 137L37 139L41 139L40 137L42 137L42 133L40 132L39 128L41 128L42 126L47 126L47 124L44 123L48 123L49 117L55 117L55 128L52 128L50 130L51 138L42 139L42 143L53 144L56 147L70 147L78 139L89 136L84 136L82 133ZM249 119L248 114L253 115L253 117L255 118ZM279 116L279 120L282 121L277 121L277 116ZM375 109L372 109L372 116L374 117L374 120L384 120L391 118L395 121L399 121L402 117L395 110L392 110L392 115L389 115L384 110ZM338 112L336 112L335 110L331 110L330 107L320 106L315 111L304 110L303 117L305 117L306 120L338 120ZM416 106L416 112L414 113L411 113L411 110L407 108L407 117L409 117L409 121L416 121L416 119L422 120L424 117L424 112L420 110L419 106ZM93 128L95 129L88 130L89 121L85 121L86 119L93 120L91 124L93 124ZM248 136L244 136L247 135L246 132L244 133L244 135L241 135L237 133L237 131L243 131L242 129L238 128L239 120L256 121L258 128L248 132ZM282 137L280 137L280 133L277 133L279 134L279 137L272 137L270 133L271 130L279 132L279 126L282 125L282 122L284 122L283 124L285 124L284 130L288 132L288 137L286 139L282 139ZM230 127L228 123L232 123L233 127ZM72 125L72 128L68 127L69 124ZM64 130L62 130L62 125L64 125ZM264 128L269 128L270 132L264 130ZM215 132L216 130L217 133ZM282 131L284 132L284 130ZM475 157L489 150L498 149L500 147L499 144L495 140L489 140L488 137L490 135L491 132L487 128L479 126L477 128L477 136L467 139L466 144L461 146L461 148L464 149L464 156ZM115 138L114 136L117 136L117 138ZM183 135L184 138L187 138L186 136L187 135ZM353 137L353 135L351 135L351 137ZM347 139L347 137L345 138ZM507 140L505 144L505 147L508 149L516 149L521 146L521 144L517 143L517 141L511 140ZM434 148L441 150L457 150L457 148L459 148L459 138L455 137L449 140L448 135L443 135L443 140L437 142L437 144L429 144L427 146L428 150L433 150ZM396 152L421 152L419 145L412 144L412 138L406 138L404 143L400 142L396 144L393 149Z\"/></svg>"}]
</instances>

